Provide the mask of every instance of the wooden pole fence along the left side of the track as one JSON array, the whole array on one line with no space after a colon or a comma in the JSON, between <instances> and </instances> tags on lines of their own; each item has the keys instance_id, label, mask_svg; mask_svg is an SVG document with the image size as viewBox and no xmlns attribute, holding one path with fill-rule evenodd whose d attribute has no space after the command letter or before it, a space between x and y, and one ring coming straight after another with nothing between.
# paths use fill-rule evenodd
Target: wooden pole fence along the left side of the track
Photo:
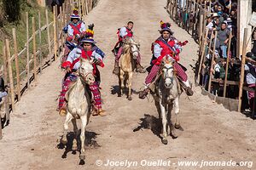
<instances>
[{"instance_id":1,"label":"wooden pole fence along the left side of the track","mask_svg":"<svg viewBox=\"0 0 256 170\"><path fill-rule=\"evenodd\" d=\"M66 35L62 28L69 22L69 16L73 13L73 8L79 8L81 17L85 17L93 8L92 0L68 0L62 4L60 13L57 14L57 7L54 7L53 21L49 22L48 9L45 9L45 23L41 22L42 14L38 11L38 16L29 18L26 12L26 43L18 52L17 35L15 28L12 30L12 39L6 39L3 45L3 80L9 85L9 94L3 98L3 115L0 113L0 139L3 138L2 127L9 124L9 113L15 111L15 103L20 101L22 94L32 81L37 82L38 73L42 73L45 65L51 65L64 50L64 40ZM36 22L38 28L36 28ZM41 26L44 24L44 26ZM32 25L32 32L30 26ZM46 44L42 44L42 34L47 35ZM54 38L51 38L54 37ZM10 43L13 42L13 43ZM13 45L13 47L12 47ZM45 55L46 54L46 55ZM20 59L26 56L26 65L20 69ZM15 69L14 69L15 67ZM14 74L15 73L15 74ZM2 124L2 118L5 122Z\"/></svg>"}]
</instances>

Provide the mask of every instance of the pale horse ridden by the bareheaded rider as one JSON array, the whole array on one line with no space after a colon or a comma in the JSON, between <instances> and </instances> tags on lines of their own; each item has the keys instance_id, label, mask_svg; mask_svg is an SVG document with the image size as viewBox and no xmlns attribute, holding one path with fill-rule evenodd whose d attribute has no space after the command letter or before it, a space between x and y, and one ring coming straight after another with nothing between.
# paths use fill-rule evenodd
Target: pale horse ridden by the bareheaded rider
<instances>
[{"instance_id":1,"label":"pale horse ridden by the bareheaded rider","mask_svg":"<svg viewBox=\"0 0 256 170\"><path fill-rule=\"evenodd\" d=\"M131 82L133 71L136 67L136 59L139 57L140 44L132 37L126 37L123 45L123 53L120 56L119 69L119 97L123 95L123 89L126 87L125 76L128 83L127 99L131 100Z\"/></svg>"}]
</instances>

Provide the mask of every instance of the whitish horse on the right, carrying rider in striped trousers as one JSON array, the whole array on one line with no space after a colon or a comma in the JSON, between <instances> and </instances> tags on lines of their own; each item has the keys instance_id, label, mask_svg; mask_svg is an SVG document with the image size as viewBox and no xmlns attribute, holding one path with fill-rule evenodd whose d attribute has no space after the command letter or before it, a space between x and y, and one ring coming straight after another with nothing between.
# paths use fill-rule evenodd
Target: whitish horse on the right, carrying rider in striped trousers
<instances>
[{"instance_id":1,"label":"whitish horse on the right, carrying rider in striped trousers","mask_svg":"<svg viewBox=\"0 0 256 170\"><path fill-rule=\"evenodd\" d=\"M174 108L175 113L175 127L179 128L179 97L180 97L180 87L178 84L176 73L172 65L172 59L165 58L162 61L162 67L160 70L160 80L156 87L156 101L160 105L160 116L162 119L162 143L167 144L168 140L166 129L170 127L171 134L173 138L177 138L175 133L175 128L172 124L171 115L172 108Z\"/></svg>"}]
</instances>

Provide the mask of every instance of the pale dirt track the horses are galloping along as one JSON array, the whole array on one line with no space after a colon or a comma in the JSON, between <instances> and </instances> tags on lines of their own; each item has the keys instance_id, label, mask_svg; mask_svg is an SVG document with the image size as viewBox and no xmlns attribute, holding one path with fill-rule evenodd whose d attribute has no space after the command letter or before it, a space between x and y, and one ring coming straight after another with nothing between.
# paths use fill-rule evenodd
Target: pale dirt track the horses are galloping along
<instances>
[{"instance_id":1,"label":"pale dirt track the horses are galloping along","mask_svg":"<svg viewBox=\"0 0 256 170\"><path fill-rule=\"evenodd\" d=\"M177 139L161 144L158 114L152 98L138 99L146 74L133 78L133 100L118 98L113 89L118 85L112 75L111 49L117 40L116 31L128 20L135 22L135 37L141 42L143 65L151 57L151 42L159 37L160 20L170 21L164 6L166 0L101 0L86 18L94 23L98 46L108 58L102 69L102 95L108 116L91 117L87 127L85 165L79 165L79 154L60 149L64 118L55 111L55 99L61 89L63 73L58 63L44 70L40 80L26 92L11 114L9 127L3 129L0 141L0 169L125 169L97 167L96 160L112 161L254 161L256 163L256 122L235 111L212 103L201 95L200 88L189 99L182 95L181 122L184 129ZM189 40L183 48L181 63L189 69L195 65L197 44L181 28L172 24L175 37ZM140 127L139 122L143 119ZM72 129L72 124L70 124ZM133 130L135 132L133 132ZM70 134L72 139L72 133ZM59 146L59 148L58 148ZM199 169L199 167L130 167L131 169ZM247 167L204 167L202 169L247 169ZM253 165L251 169L256 169Z\"/></svg>"}]
</instances>

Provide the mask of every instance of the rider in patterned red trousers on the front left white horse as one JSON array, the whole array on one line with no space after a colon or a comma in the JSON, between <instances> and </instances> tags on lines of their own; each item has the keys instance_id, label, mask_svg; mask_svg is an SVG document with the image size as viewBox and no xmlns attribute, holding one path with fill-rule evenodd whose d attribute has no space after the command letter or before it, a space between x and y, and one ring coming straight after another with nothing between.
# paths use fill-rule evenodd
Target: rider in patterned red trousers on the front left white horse
<instances>
[{"instance_id":1,"label":"rider in patterned red trousers on the front left white horse","mask_svg":"<svg viewBox=\"0 0 256 170\"><path fill-rule=\"evenodd\" d=\"M59 100L59 107L57 111L60 111L60 115L66 115L67 114L67 103L65 99L65 94L67 93L67 90L69 86L76 82L77 76L76 71L78 71L80 66L80 57L84 59L94 59L93 63L93 74L96 77L96 82L94 82L92 85L89 85L90 91L93 94L94 98L94 104L93 104L93 111L92 115L97 116L101 115L103 116L103 110L102 110L102 98L100 93L100 72L97 69L97 65L100 65L101 67L104 67L103 64L103 58L105 54L102 52L101 49L97 48L95 45L95 41L92 38L84 38L81 40L81 46L78 48L73 48L73 50L68 54L67 61L65 61L61 66L66 69L66 76L64 77L64 81L62 84L62 91L61 96Z\"/></svg>"}]
</instances>

